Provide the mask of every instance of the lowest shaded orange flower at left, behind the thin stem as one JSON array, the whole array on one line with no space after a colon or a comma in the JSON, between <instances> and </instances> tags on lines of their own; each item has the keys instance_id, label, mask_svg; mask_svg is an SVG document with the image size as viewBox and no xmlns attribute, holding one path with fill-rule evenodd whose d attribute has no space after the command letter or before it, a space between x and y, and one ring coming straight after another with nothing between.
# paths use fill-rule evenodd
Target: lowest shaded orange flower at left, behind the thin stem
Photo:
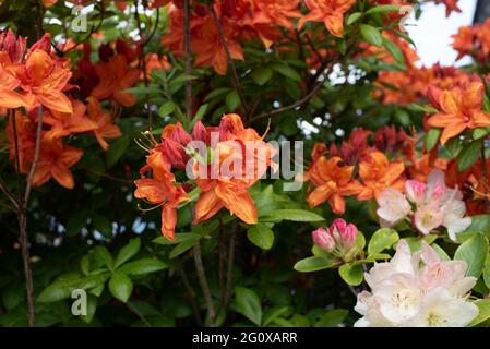
<instances>
[{"instance_id":1,"label":"lowest shaded orange flower at left, behind the thin stem","mask_svg":"<svg viewBox=\"0 0 490 349\"><path fill-rule=\"evenodd\" d=\"M83 151L63 145L60 139L43 137L40 144L39 163L34 173L33 185L39 186L51 178L67 189L73 189L75 182L70 167L82 157Z\"/></svg>"}]
</instances>

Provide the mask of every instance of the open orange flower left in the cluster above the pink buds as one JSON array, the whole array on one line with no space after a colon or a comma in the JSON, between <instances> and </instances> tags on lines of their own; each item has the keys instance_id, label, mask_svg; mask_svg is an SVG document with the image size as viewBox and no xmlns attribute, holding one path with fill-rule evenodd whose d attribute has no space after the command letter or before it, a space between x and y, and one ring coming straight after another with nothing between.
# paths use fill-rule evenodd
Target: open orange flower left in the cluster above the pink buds
<instances>
[{"instance_id":1,"label":"open orange flower left in the cluster above the pink buds","mask_svg":"<svg viewBox=\"0 0 490 349\"><path fill-rule=\"evenodd\" d=\"M328 201L332 212L342 215L345 212L344 196L356 195L361 189L359 182L352 180L354 166L340 166L342 158L319 157L306 174L316 188L308 195L311 208Z\"/></svg>"}]
</instances>

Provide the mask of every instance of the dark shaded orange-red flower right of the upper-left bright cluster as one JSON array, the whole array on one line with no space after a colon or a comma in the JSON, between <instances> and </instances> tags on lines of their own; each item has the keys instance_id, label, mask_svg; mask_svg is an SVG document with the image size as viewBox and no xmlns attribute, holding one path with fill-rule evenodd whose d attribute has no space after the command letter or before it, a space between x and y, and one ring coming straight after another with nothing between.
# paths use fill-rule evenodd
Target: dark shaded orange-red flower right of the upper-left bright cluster
<instances>
[{"instance_id":1,"label":"dark shaded orange-red flower right of the upper-left bright cluster","mask_svg":"<svg viewBox=\"0 0 490 349\"><path fill-rule=\"evenodd\" d=\"M92 91L92 96L99 100L113 99L124 107L134 105L134 95L122 91L132 87L140 80L140 71L129 68L124 56L116 55L108 62L97 62L95 72L99 83Z\"/></svg>"}]
</instances>

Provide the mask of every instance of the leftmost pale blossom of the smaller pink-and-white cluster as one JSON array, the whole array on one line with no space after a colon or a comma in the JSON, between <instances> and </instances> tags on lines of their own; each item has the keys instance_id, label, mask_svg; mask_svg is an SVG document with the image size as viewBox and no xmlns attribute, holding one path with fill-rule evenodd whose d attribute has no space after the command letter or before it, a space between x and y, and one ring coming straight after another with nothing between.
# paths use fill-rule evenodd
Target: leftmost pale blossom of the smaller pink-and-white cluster
<instances>
[{"instance_id":1,"label":"leftmost pale blossom of the smaller pink-and-white cluster","mask_svg":"<svg viewBox=\"0 0 490 349\"><path fill-rule=\"evenodd\" d=\"M405 195L393 188L387 188L377 197L381 227L393 227L405 219L411 207Z\"/></svg>"}]
</instances>

